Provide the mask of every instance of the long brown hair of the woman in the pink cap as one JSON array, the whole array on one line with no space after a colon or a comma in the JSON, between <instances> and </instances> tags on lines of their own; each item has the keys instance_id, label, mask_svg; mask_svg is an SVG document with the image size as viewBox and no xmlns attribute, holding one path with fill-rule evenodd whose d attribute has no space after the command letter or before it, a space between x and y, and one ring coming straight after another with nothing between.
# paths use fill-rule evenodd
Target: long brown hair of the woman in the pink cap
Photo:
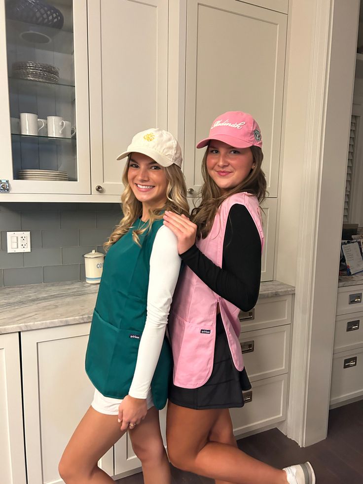
<instances>
[{"instance_id":1,"label":"long brown hair of the woman in the pink cap","mask_svg":"<svg viewBox=\"0 0 363 484\"><path fill-rule=\"evenodd\" d=\"M254 169L250 171L249 175L239 185L224 195L215 181L209 176L207 169L208 149L209 147L206 149L202 160L202 176L204 181L200 191L200 198L202 200L199 207L193 208L190 219L198 226L197 237L203 239L207 237L212 228L220 204L230 195L247 191L255 195L259 203L262 203L266 198L266 178L261 169L263 160L262 149L257 146L251 146L255 164Z\"/></svg>"}]
</instances>

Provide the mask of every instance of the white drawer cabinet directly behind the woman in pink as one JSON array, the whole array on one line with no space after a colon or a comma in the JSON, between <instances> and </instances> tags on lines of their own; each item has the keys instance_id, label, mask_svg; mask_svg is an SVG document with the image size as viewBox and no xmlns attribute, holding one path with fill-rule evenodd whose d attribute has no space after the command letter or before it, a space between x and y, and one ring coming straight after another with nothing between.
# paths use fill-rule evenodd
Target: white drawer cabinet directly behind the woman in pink
<instances>
[{"instance_id":1,"label":"white drawer cabinet directly behind the woman in pink","mask_svg":"<svg viewBox=\"0 0 363 484\"><path fill-rule=\"evenodd\" d=\"M230 410L237 437L286 419L292 297L261 298L252 311L240 312L240 342L252 389L244 392L244 407Z\"/></svg>"}]
</instances>

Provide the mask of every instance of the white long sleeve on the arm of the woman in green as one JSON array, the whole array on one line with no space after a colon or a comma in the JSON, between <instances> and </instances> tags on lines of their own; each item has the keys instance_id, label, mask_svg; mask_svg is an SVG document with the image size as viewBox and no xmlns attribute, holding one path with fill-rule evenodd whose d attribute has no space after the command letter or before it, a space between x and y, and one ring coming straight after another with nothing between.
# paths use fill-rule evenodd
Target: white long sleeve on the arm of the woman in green
<instances>
[{"instance_id":1,"label":"white long sleeve on the arm of the woman in green","mask_svg":"<svg viewBox=\"0 0 363 484\"><path fill-rule=\"evenodd\" d=\"M146 398L155 372L181 266L178 239L165 225L156 233L150 256L147 316L129 395Z\"/></svg>"}]
</instances>

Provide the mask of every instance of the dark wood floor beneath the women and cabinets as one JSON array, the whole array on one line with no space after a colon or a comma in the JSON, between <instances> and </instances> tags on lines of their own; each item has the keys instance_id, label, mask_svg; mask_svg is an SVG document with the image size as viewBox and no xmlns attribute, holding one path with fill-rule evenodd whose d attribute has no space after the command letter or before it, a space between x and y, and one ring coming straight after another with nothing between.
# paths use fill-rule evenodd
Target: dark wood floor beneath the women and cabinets
<instances>
[{"instance_id":1,"label":"dark wood floor beneath the women and cabinets","mask_svg":"<svg viewBox=\"0 0 363 484\"><path fill-rule=\"evenodd\" d=\"M272 429L238 441L256 459L283 468L309 460L317 484L363 484L363 400L330 410L327 439L299 447L279 430ZM173 484L213 484L214 481L172 468ZM119 484L143 484L142 474Z\"/></svg>"}]
</instances>

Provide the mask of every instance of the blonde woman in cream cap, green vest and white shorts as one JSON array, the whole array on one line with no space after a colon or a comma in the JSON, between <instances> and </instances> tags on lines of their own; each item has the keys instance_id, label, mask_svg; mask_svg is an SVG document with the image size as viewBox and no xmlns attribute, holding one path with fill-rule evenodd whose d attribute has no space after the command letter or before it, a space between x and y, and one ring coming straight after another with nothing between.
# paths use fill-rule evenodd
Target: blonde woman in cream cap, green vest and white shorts
<instances>
[{"instance_id":1,"label":"blonde woman in cream cap, green vest and white shorts","mask_svg":"<svg viewBox=\"0 0 363 484\"><path fill-rule=\"evenodd\" d=\"M113 483L97 463L126 431L145 483L171 480L158 410L172 369L165 328L181 259L163 213L188 214L182 152L171 133L150 128L117 159L124 157L123 218L105 244L86 353L94 399L59 464L67 484Z\"/></svg>"}]
</instances>

